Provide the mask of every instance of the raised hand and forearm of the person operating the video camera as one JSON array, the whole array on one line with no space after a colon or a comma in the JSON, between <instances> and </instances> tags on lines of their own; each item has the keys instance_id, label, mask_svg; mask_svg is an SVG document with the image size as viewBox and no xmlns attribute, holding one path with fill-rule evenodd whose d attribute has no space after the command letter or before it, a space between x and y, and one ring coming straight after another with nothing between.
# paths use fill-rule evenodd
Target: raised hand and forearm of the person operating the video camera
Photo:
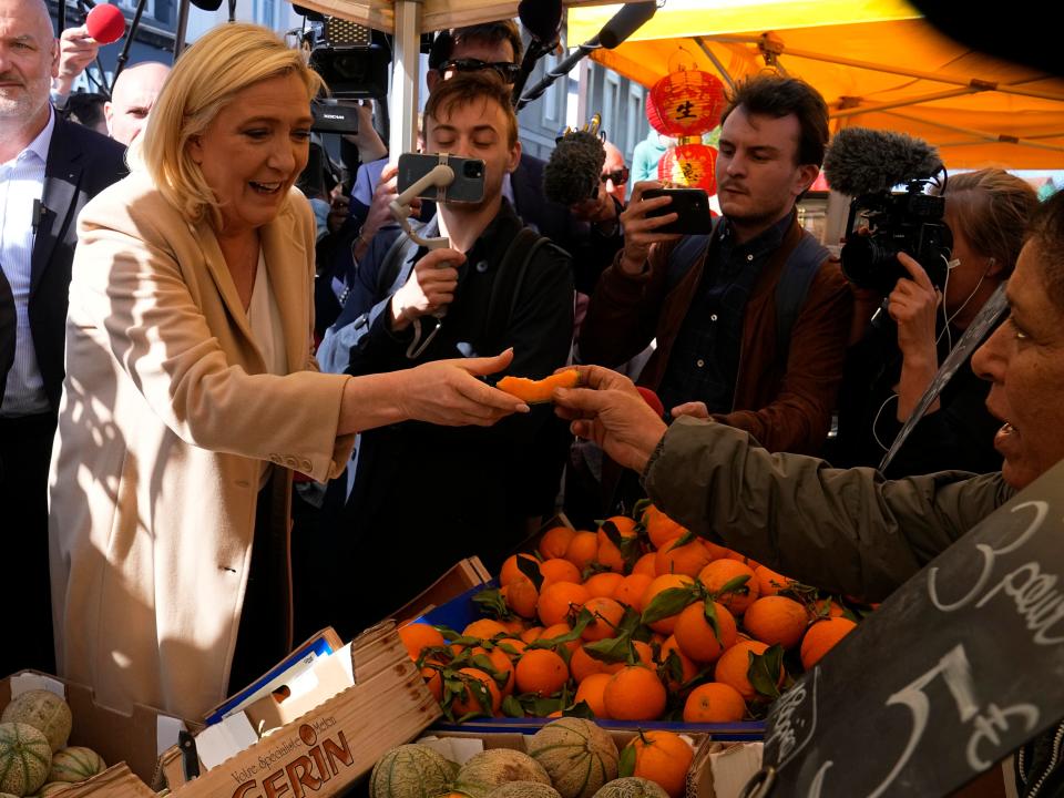
<instances>
[{"instance_id":1,"label":"raised hand and forearm of the person operating the video camera","mask_svg":"<svg viewBox=\"0 0 1064 798\"><path fill-rule=\"evenodd\" d=\"M942 295L931 283L928 273L913 258L899 253L898 262L912 277L898 280L887 306L890 317L898 323L898 348L902 356L897 388L898 420L904 421L931 385L939 368L934 334L935 314ZM935 401L928 412L938 408Z\"/></svg>"}]
</instances>

